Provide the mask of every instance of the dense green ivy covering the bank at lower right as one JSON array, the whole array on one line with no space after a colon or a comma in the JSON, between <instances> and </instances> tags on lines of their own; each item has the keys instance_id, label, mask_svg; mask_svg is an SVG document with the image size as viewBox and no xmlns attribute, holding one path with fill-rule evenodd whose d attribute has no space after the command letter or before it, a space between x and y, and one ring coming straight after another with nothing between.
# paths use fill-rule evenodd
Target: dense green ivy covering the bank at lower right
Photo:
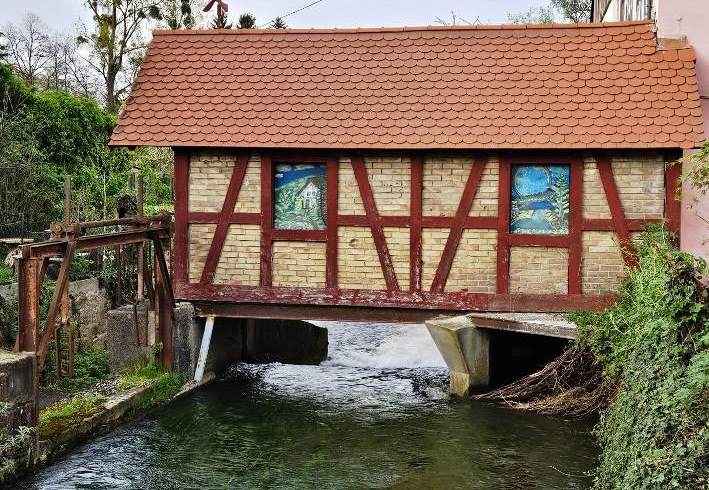
<instances>
[{"instance_id":1,"label":"dense green ivy covering the bank at lower right","mask_svg":"<svg viewBox=\"0 0 709 490\"><path fill-rule=\"evenodd\" d=\"M573 315L580 343L619 383L603 414L597 489L709 485L707 265L673 247L662 229L636 243L639 266L619 301Z\"/></svg>"}]
</instances>

